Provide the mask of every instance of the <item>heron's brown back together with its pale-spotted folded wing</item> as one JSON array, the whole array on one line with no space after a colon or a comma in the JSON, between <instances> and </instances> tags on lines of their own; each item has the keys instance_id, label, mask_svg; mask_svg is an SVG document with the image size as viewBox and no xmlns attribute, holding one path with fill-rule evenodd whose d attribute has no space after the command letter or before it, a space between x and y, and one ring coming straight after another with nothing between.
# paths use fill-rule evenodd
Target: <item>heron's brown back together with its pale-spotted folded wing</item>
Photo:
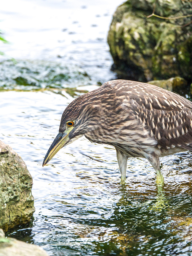
<instances>
[{"instance_id":1,"label":"heron's brown back together with its pale-spotted folded wing","mask_svg":"<svg viewBox=\"0 0 192 256\"><path fill-rule=\"evenodd\" d=\"M149 136L155 138L159 149L173 153L178 147L192 150L192 103L189 100L155 85L135 81L113 80L103 87L113 88L116 97L127 104Z\"/></svg>"}]
</instances>

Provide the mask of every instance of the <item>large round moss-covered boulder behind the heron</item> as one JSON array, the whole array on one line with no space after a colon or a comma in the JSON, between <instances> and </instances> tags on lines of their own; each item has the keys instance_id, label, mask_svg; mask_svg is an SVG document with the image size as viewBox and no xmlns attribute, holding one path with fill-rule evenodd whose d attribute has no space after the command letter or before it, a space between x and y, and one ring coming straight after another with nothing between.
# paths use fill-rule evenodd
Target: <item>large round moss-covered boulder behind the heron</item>
<instances>
[{"instance_id":1,"label":"large round moss-covered boulder behind the heron","mask_svg":"<svg viewBox=\"0 0 192 256\"><path fill-rule=\"evenodd\" d=\"M191 18L147 18L153 12L165 17L191 14L189 2L130 0L114 13L108 44L118 78L150 81L182 76L192 79Z\"/></svg>"}]
</instances>

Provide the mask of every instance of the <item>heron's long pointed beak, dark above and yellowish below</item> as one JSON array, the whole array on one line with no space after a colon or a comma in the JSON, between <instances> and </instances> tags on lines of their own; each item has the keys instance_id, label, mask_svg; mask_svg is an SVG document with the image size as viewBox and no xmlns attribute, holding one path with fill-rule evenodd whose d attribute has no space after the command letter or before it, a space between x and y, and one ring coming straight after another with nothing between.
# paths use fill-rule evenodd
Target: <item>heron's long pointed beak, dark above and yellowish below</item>
<instances>
[{"instance_id":1,"label":"heron's long pointed beak, dark above and yellowish below","mask_svg":"<svg viewBox=\"0 0 192 256\"><path fill-rule=\"evenodd\" d=\"M49 150L47 151L47 154L43 160L43 166L45 164L47 164L52 157L63 147L65 146L65 144L68 142L69 134L70 131L68 132L59 132L57 134L57 136L55 137L55 139L53 140L53 143L51 144L51 147L49 148Z\"/></svg>"}]
</instances>

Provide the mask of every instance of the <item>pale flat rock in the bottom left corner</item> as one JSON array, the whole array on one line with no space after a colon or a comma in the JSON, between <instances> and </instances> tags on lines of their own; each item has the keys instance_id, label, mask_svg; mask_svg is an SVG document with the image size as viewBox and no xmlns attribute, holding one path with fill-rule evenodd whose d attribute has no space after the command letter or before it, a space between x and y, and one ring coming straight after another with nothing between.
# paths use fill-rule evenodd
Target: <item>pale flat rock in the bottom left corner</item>
<instances>
[{"instance_id":1,"label":"pale flat rock in the bottom left corner","mask_svg":"<svg viewBox=\"0 0 192 256\"><path fill-rule=\"evenodd\" d=\"M34 244L18 241L14 238L5 238L0 229L0 256L48 256L47 253Z\"/></svg>"}]
</instances>

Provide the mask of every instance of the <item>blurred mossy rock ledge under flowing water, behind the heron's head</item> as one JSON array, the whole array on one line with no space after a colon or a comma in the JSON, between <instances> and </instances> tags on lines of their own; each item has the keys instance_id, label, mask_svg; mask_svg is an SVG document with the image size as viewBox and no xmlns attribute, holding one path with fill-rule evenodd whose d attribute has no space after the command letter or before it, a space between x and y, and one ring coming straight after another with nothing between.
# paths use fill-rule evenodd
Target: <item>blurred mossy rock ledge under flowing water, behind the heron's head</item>
<instances>
[{"instance_id":1,"label":"blurred mossy rock ledge under flowing water, behind the heron's head","mask_svg":"<svg viewBox=\"0 0 192 256\"><path fill-rule=\"evenodd\" d=\"M90 77L83 69L60 62L5 60L0 64L0 91L38 91L90 84Z\"/></svg>"}]
</instances>

